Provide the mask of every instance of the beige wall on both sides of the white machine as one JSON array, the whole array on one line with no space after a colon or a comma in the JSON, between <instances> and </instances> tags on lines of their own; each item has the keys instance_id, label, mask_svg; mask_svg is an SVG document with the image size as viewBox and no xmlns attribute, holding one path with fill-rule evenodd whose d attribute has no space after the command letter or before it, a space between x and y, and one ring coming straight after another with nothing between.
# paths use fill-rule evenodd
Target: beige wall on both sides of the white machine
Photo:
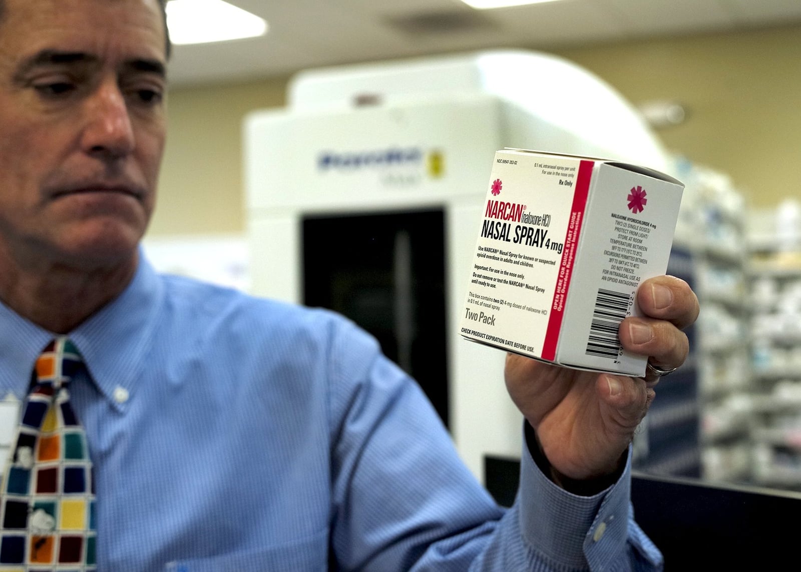
<instances>
[{"instance_id":1,"label":"beige wall on both sides of the white machine","mask_svg":"<svg viewBox=\"0 0 801 572\"><path fill-rule=\"evenodd\" d=\"M674 99L666 146L731 175L755 207L801 199L801 26L562 50L632 103ZM176 89L151 235L244 231L241 124L287 79Z\"/></svg>"}]
</instances>

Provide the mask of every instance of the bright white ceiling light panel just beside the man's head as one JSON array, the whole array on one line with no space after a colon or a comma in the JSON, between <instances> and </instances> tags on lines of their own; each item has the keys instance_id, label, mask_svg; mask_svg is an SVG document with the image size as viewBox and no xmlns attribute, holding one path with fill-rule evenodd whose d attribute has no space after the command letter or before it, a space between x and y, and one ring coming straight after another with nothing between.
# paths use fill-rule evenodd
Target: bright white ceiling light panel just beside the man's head
<instances>
[{"instance_id":1,"label":"bright white ceiling light panel just beside the man's head","mask_svg":"<svg viewBox=\"0 0 801 572\"><path fill-rule=\"evenodd\" d=\"M224 42L267 34L267 22L223 0L170 0L167 28L174 44Z\"/></svg>"}]
</instances>

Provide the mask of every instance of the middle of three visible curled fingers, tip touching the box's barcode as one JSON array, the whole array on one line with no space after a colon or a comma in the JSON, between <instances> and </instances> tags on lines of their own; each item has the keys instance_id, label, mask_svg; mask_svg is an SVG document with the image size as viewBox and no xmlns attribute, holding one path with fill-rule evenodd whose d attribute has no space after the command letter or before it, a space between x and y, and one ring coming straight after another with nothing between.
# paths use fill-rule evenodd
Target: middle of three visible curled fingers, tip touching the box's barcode
<instances>
[{"instance_id":1,"label":"middle of three visible curled fingers, tip touching the box's barcode","mask_svg":"<svg viewBox=\"0 0 801 572\"><path fill-rule=\"evenodd\" d=\"M662 369L678 368L690 352L686 334L665 320L628 317L621 322L618 337L626 351L649 356Z\"/></svg>"}]
</instances>

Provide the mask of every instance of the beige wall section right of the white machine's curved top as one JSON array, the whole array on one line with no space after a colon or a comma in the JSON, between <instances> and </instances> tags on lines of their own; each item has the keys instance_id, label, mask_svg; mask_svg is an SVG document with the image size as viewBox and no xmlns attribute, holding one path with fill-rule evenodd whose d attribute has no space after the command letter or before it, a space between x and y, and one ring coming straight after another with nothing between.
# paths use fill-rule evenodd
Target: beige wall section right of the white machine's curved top
<instances>
[{"instance_id":1,"label":"beige wall section right of the white machine's curved top","mask_svg":"<svg viewBox=\"0 0 801 572\"><path fill-rule=\"evenodd\" d=\"M666 147L731 175L752 206L801 199L801 26L561 55L632 103L686 105L685 123L659 131Z\"/></svg>"}]
</instances>

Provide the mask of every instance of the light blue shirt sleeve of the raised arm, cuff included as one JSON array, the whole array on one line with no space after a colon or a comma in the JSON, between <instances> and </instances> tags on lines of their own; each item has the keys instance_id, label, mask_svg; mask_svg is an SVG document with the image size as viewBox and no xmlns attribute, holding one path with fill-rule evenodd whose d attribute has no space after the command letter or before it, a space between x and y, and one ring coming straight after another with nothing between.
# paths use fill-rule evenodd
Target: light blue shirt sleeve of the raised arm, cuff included
<instances>
[{"instance_id":1,"label":"light blue shirt sleeve of the raised arm, cuff included","mask_svg":"<svg viewBox=\"0 0 801 572\"><path fill-rule=\"evenodd\" d=\"M630 468L594 497L549 481L528 450L502 510L461 462L421 389L356 331L332 344L331 559L340 570L658 570L630 514ZM476 420L476 422L486 422Z\"/></svg>"}]
</instances>

